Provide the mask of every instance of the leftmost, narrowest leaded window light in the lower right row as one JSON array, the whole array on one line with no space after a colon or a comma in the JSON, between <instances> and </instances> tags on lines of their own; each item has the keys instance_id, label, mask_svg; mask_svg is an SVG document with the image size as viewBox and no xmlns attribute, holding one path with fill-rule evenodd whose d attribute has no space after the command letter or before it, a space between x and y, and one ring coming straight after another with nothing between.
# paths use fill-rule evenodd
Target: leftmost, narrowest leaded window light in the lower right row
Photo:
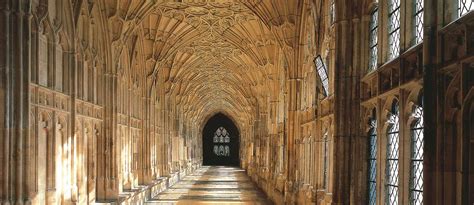
<instances>
[{"instance_id":1,"label":"leftmost, narrowest leaded window light in the lower right row","mask_svg":"<svg viewBox=\"0 0 474 205\"><path fill-rule=\"evenodd\" d=\"M369 119L368 193L369 205L377 204L377 118L375 109Z\"/></svg>"}]
</instances>

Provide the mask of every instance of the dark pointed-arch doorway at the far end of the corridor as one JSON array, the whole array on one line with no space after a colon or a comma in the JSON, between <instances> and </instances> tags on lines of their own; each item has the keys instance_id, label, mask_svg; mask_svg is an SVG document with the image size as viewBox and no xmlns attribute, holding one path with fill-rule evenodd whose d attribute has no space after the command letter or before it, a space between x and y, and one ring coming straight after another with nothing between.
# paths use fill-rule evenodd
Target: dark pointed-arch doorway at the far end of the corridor
<instances>
[{"instance_id":1,"label":"dark pointed-arch doorway at the far end of the corridor","mask_svg":"<svg viewBox=\"0 0 474 205\"><path fill-rule=\"evenodd\" d=\"M202 132L203 165L239 166L239 130L222 113L211 117Z\"/></svg>"}]
</instances>

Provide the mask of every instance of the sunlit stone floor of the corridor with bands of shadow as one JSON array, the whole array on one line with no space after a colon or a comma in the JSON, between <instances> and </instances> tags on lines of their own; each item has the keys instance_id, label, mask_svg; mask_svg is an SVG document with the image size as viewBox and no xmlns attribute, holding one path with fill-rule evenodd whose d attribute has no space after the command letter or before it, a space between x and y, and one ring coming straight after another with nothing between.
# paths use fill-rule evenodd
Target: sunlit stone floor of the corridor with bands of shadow
<instances>
[{"instance_id":1,"label":"sunlit stone floor of the corridor with bands of shadow","mask_svg":"<svg viewBox=\"0 0 474 205\"><path fill-rule=\"evenodd\" d=\"M147 204L272 204L244 170L204 166Z\"/></svg>"}]
</instances>

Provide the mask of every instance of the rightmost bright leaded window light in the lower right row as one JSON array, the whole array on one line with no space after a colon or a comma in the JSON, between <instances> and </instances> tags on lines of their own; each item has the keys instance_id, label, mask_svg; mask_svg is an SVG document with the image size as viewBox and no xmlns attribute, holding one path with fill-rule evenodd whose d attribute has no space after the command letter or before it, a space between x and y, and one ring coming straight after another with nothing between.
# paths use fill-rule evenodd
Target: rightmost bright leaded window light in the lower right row
<instances>
[{"instance_id":1,"label":"rightmost bright leaded window light in the lower right row","mask_svg":"<svg viewBox=\"0 0 474 205\"><path fill-rule=\"evenodd\" d=\"M410 204L423 204L423 104L413 109L411 125Z\"/></svg>"}]
</instances>

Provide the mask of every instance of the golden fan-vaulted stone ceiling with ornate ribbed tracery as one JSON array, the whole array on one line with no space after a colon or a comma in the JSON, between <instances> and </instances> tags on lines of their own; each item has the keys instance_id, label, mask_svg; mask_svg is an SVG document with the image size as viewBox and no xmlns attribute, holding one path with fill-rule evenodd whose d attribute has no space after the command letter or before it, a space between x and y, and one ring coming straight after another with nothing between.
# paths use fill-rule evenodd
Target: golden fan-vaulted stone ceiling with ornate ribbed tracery
<instances>
[{"instance_id":1,"label":"golden fan-vaulted stone ceiling with ornate ribbed tracery","mask_svg":"<svg viewBox=\"0 0 474 205\"><path fill-rule=\"evenodd\" d=\"M286 1L107 0L104 6L112 41L123 45L116 55L134 53L131 69L144 61L145 68L135 67L161 80L159 89L201 122L216 112L248 120L277 89L272 82L286 62L275 58L283 56L281 45L294 44L296 10L277 4Z\"/></svg>"}]
</instances>

